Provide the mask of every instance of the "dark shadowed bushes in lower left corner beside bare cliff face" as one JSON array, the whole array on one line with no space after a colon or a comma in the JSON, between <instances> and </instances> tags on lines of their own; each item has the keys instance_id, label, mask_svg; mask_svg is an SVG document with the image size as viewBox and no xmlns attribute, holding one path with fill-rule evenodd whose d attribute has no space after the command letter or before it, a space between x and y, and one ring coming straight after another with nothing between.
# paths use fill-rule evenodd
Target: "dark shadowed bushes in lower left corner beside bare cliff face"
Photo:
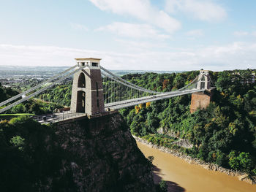
<instances>
[{"instance_id":1,"label":"dark shadowed bushes in lower left corner beside bare cliff face","mask_svg":"<svg viewBox=\"0 0 256 192\"><path fill-rule=\"evenodd\" d=\"M59 169L61 148L53 134L52 127L28 116L0 121L1 191L37 191L34 183Z\"/></svg>"}]
</instances>

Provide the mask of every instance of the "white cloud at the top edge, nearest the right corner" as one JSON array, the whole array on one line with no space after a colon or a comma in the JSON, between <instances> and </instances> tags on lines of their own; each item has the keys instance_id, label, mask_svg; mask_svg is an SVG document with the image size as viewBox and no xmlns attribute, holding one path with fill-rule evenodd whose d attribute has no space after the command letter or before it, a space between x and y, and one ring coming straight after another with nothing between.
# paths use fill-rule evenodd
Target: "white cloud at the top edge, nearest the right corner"
<instances>
[{"instance_id":1,"label":"white cloud at the top edge, nearest the right corner","mask_svg":"<svg viewBox=\"0 0 256 192\"><path fill-rule=\"evenodd\" d=\"M212 0L166 0L166 10L170 13L184 12L205 21L219 21L227 17L227 12Z\"/></svg>"}]
</instances>

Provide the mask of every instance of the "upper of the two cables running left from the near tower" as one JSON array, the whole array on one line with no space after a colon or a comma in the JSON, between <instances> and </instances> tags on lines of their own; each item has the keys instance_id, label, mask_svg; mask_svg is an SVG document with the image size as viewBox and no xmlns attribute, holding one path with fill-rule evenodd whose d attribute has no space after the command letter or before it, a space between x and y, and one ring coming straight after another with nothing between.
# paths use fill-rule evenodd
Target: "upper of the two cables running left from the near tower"
<instances>
[{"instance_id":1,"label":"upper of the two cables running left from the near tower","mask_svg":"<svg viewBox=\"0 0 256 192\"><path fill-rule=\"evenodd\" d=\"M46 80L46 81L44 81L44 82L41 82L39 85L36 85L36 86L34 86L33 88L30 88L29 90L24 91L23 93L18 94L17 96L13 96L13 97L10 98L10 99L7 99L7 100L5 100L5 101L2 101L2 102L0 103L0 107L3 106L4 104L10 103L11 101L13 101L13 100L15 100L15 99L18 99L20 96L23 96L23 95L25 95L25 94L27 94L27 93L30 93L31 91L36 90L37 88L42 87L42 85L45 85L45 83L51 82L52 80L55 80L56 78L60 77L62 74L65 74L65 73L71 71L72 69L75 69L75 67L77 67L77 66L78 66L78 65L76 64L75 66L70 67L69 69L65 70L64 72L61 72L61 73L59 73L59 74L56 74L55 76L50 77L50 79L48 79L48 80Z\"/></svg>"}]
</instances>

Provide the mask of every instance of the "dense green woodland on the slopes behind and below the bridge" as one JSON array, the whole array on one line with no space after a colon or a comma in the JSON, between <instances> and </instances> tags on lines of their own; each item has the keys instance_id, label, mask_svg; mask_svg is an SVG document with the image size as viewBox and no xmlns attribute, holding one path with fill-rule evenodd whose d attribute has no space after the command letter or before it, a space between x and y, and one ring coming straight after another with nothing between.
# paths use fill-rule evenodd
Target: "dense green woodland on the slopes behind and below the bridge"
<instances>
[{"instance_id":1,"label":"dense green woodland on the slopes behind and below the bridge","mask_svg":"<svg viewBox=\"0 0 256 192\"><path fill-rule=\"evenodd\" d=\"M123 78L153 91L174 91L194 80L198 73L126 74ZM122 109L120 113L132 134L138 137L204 161L256 175L256 83L252 74L255 71L250 69L211 72L216 87L213 101L207 109L192 114L189 112L191 95L140 104ZM56 85L39 96L39 99L55 103L50 103L52 107L41 102L37 110L33 110L32 106L39 102L33 100L20 104L22 110L14 107L11 112L38 114L50 112L58 107L57 104L69 106L71 85L70 81ZM15 94L4 88L0 91L6 93L5 96L0 94L3 97L0 100ZM159 134L159 128L165 128L169 136ZM188 139L194 147L184 149L173 145L173 141L179 138ZM8 145L13 145L11 140Z\"/></svg>"}]
</instances>

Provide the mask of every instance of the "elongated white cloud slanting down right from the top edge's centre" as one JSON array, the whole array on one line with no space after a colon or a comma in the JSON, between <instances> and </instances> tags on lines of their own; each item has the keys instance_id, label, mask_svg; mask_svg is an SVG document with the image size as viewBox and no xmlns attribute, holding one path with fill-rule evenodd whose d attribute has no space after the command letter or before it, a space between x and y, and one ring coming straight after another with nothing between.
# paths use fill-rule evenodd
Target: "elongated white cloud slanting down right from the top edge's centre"
<instances>
[{"instance_id":1,"label":"elongated white cloud slanting down right from the top edge's centre","mask_svg":"<svg viewBox=\"0 0 256 192\"><path fill-rule=\"evenodd\" d=\"M181 28L181 23L171 18L166 12L153 7L149 0L90 0L104 11L118 15L129 15L154 26L165 29L169 33Z\"/></svg>"}]
</instances>

